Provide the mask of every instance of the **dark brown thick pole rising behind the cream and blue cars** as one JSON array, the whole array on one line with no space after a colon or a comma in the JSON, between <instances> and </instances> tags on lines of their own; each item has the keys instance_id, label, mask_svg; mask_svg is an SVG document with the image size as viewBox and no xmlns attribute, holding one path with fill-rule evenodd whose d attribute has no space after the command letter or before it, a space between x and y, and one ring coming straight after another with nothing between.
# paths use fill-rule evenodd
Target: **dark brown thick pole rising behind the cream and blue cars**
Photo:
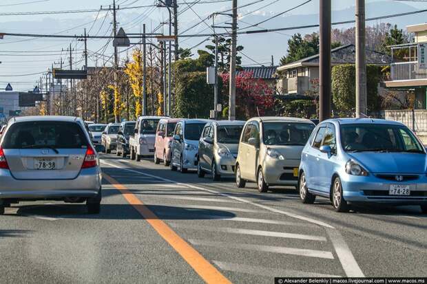
<instances>
[{"instance_id":1,"label":"dark brown thick pole rising behind the cream and blue cars","mask_svg":"<svg viewBox=\"0 0 427 284\"><path fill-rule=\"evenodd\" d=\"M331 0L320 0L319 120L331 118Z\"/></svg>"}]
</instances>

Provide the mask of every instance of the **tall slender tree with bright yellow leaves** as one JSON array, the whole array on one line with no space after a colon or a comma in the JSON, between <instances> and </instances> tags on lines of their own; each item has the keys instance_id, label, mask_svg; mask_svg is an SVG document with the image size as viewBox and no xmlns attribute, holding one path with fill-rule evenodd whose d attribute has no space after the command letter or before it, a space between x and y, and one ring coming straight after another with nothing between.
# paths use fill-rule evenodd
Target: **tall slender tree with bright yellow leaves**
<instances>
[{"instance_id":1,"label":"tall slender tree with bright yellow leaves","mask_svg":"<svg viewBox=\"0 0 427 284\"><path fill-rule=\"evenodd\" d=\"M125 74L129 77L129 83L135 97L135 117L138 118L143 113L141 95L143 94L143 54L139 49L132 53L132 61L126 64Z\"/></svg>"}]
</instances>

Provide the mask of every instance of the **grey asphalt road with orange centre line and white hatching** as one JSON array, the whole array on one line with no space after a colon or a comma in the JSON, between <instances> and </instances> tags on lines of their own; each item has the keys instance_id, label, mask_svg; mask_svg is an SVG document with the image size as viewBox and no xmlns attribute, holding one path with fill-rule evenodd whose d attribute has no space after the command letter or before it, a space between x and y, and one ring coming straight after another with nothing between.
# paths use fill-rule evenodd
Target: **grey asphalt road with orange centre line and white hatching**
<instances>
[{"instance_id":1,"label":"grey asphalt road with orange centre line and white hatching","mask_svg":"<svg viewBox=\"0 0 427 284\"><path fill-rule=\"evenodd\" d=\"M273 283L274 276L426 276L427 215L343 214L292 188L258 193L151 160L101 155L100 215L28 202L0 217L1 283Z\"/></svg>"}]
</instances>

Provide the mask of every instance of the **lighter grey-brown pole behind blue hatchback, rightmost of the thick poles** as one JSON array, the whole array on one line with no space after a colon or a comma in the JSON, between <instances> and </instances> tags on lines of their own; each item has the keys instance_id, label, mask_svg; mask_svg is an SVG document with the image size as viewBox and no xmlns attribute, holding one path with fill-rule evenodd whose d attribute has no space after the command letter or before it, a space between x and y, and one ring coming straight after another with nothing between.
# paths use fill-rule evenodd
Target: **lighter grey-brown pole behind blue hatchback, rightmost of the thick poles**
<instances>
[{"instance_id":1,"label":"lighter grey-brown pole behind blue hatchback, rightmost of the thick poles","mask_svg":"<svg viewBox=\"0 0 427 284\"><path fill-rule=\"evenodd\" d=\"M356 118L366 116L365 0L356 0Z\"/></svg>"}]
</instances>

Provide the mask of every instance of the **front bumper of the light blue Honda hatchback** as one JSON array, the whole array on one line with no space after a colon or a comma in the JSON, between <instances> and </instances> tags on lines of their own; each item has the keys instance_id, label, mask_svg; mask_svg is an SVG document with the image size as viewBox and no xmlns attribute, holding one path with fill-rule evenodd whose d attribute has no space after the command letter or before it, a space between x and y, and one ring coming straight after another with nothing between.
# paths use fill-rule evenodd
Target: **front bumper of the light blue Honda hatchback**
<instances>
[{"instance_id":1,"label":"front bumper of the light blue Honda hatchback","mask_svg":"<svg viewBox=\"0 0 427 284\"><path fill-rule=\"evenodd\" d=\"M344 199L351 203L382 203L395 205L427 204L427 177L408 182L388 182L373 175L341 177ZM410 195L389 195L390 185L406 184Z\"/></svg>"}]
</instances>

